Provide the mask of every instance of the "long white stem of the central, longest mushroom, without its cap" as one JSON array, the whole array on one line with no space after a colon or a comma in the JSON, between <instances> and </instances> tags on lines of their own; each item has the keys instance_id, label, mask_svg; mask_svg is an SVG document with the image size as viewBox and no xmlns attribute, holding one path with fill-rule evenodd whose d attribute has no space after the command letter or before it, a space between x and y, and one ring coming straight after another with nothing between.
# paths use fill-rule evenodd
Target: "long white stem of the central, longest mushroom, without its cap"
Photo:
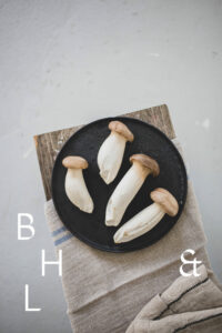
<instances>
[{"instance_id":1,"label":"long white stem of the central, longest mushroom, without its cap","mask_svg":"<svg viewBox=\"0 0 222 333\"><path fill-rule=\"evenodd\" d=\"M138 162L132 164L108 202L105 212L107 225L117 226L120 223L129 203L135 196L150 172L150 169L143 168Z\"/></svg>"}]
</instances>

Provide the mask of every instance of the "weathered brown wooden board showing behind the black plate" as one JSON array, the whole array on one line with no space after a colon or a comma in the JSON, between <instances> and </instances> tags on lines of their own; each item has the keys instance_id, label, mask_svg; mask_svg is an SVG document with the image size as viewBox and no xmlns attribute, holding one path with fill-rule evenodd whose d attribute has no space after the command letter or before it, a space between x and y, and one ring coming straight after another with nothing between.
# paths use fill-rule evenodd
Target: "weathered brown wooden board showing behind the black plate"
<instances>
[{"instance_id":1,"label":"weathered brown wooden board showing behind the black plate","mask_svg":"<svg viewBox=\"0 0 222 333\"><path fill-rule=\"evenodd\" d=\"M175 138L174 129L170 119L170 113L165 104L125 113L122 115L140 119L157 127L170 139ZM78 125L70 129L53 131L34 137L37 155L47 200L51 199L51 173L57 154L61 150L63 143L81 127L82 125Z\"/></svg>"}]
</instances>

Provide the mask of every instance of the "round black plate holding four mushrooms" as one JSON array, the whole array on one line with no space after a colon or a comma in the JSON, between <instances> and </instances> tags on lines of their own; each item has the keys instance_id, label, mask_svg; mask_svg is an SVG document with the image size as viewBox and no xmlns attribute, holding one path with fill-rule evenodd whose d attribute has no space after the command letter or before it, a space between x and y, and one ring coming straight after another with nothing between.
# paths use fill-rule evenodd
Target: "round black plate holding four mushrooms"
<instances>
[{"instance_id":1,"label":"round black plate holding four mushrooms","mask_svg":"<svg viewBox=\"0 0 222 333\"><path fill-rule=\"evenodd\" d=\"M127 143L118 176L110 185L107 185L99 174L97 157L102 142L110 133L108 124L113 119L120 120L129 127L134 134L134 141ZM128 243L115 244L113 234L120 225L118 228L105 226L105 206L117 184L131 167L129 158L134 153L144 153L155 159L160 165L160 174L158 178L148 176L141 190L128 206L120 225L152 203L150 192L155 188L169 190L176 198L180 210L175 218L164 215L161 222L147 234ZM94 202L92 214L80 211L69 201L65 194L64 178L67 169L62 165L62 160L67 155L80 155L89 162L89 168L83 171L83 176ZM159 241L178 221L185 198L185 167L174 144L154 127L132 118L108 118L83 127L65 142L54 162L52 199L59 216L78 239L103 251L128 252L149 246Z\"/></svg>"}]
</instances>

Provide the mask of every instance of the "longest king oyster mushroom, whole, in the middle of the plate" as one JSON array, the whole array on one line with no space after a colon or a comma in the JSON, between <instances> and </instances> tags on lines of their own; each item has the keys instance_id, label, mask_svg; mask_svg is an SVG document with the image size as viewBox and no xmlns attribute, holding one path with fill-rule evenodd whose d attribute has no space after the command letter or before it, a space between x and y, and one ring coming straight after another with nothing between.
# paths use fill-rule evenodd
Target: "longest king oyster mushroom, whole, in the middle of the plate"
<instances>
[{"instance_id":1,"label":"longest king oyster mushroom, whole, in the middle of the plate","mask_svg":"<svg viewBox=\"0 0 222 333\"><path fill-rule=\"evenodd\" d=\"M132 167L124 174L112 193L105 211L105 224L117 226L122 216L142 186L147 176L152 173L157 176L160 173L159 164L155 160L144 154L134 154L130 158Z\"/></svg>"}]
</instances>

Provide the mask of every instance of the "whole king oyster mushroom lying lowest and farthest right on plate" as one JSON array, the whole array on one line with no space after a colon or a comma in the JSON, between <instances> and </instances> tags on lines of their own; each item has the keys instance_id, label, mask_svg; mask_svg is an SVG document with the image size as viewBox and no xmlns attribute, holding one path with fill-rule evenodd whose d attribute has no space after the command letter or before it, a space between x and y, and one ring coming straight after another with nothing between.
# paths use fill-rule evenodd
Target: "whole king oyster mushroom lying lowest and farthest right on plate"
<instances>
[{"instance_id":1,"label":"whole king oyster mushroom lying lowest and farthest right on plate","mask_svg":"<svg viewBox=\"0 0 222 333\"><path fill-rule=\"evenodd\" d=\"M157 189L150 196L154 203L139 212L115 232L113 236L115 243L129 242L141 236L154 228L164 214L170 216L178 214L178 201L169 191Z\"/></svg>"}]
</instances>

